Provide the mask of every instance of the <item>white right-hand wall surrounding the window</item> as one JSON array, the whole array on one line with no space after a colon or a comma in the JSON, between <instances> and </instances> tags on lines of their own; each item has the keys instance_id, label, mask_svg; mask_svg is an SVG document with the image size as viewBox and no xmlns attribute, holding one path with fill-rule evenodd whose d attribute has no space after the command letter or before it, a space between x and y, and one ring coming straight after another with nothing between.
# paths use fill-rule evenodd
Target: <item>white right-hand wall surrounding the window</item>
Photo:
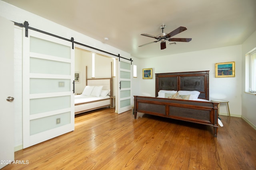
<instances>
[{"instance_id":1,"label":"white right-hand wall surrounding the window","mask_svg":"<svg viewBox=\"0 0 256 170\"><path fill-rule=\"evenodd\" d=\"M256 129L256 95L245 93L246 89L246 53L256 47L256 31L242 44L242 118Z\"/></svg>"}]
</instances>

